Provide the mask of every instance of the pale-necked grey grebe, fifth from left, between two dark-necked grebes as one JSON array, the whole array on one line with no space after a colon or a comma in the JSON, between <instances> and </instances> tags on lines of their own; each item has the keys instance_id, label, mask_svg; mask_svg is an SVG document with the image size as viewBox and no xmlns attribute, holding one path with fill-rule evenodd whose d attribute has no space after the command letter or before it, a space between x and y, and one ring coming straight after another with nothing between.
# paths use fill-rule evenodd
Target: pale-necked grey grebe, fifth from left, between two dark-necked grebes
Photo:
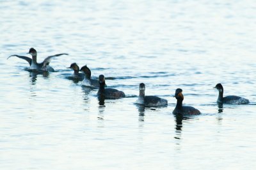
<instances>
[{"instance_id":1,"label":"pale-necked grey grebe, fifth from left, between two dark-necked grebes","mask_svg":"<svg viewBox=\"0 0 256 170\"><path fill-rule=\"evenodd\" d=\"M161 99L157 96L145 96L145 84L139 85L140 96L138 97L136 104L143 104L145 107L159 107L168 104L166 99Z\"/></svg>"}]
</instances>

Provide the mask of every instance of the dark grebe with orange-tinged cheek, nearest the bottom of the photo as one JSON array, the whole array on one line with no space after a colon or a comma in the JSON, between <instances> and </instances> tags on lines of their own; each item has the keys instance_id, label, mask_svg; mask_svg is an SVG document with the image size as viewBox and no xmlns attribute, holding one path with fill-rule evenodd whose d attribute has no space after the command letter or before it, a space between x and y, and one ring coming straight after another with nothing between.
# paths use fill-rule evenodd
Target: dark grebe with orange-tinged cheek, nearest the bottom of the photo
<instances>
[{"instance_id":1,"label":"dark grebe with orange-tinged cheek, nearest the bottom of the photo","mask_svg":"<svg viewBox=\"0 0 256 170\"><path fill-rule=\"evenodd\" d=\"M175 96L173 96L177 99L177 104L175 109L173 110L173 114L184 114L184 115L199 115L200 111L196 108L193 108L191 106L182 106L182 101L184 99L184 96L182 94L182 89L176 89Z\"/></svg>"}]
</instances>

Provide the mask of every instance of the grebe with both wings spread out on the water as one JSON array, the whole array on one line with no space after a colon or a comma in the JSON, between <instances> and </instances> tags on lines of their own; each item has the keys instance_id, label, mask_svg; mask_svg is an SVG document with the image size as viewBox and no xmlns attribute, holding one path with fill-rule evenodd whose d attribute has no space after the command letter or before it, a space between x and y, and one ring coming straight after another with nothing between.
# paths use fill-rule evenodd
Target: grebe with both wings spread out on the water
<instances>
[{"instance_id":1,"label":"grebe with both wings spread out on the water","mask_svg":"<svg viewBox=\"0 0 256 170\"><path fill-rule=\"evenodd\" d=\"M51 66L49 66L51 59L54 57L58 57L60 55L68 55L68 53L58 53L56 55L50 55L46 57L43 62L37 63L36 61L37 52L35 48L30 48L28 53L32 55L32 59L22 55L10 55L7 59L9 59L10 57L19 57L20 59L24 59L29 63L29 70L54 71L54 69Z\"/></svg>"}]
</instances>

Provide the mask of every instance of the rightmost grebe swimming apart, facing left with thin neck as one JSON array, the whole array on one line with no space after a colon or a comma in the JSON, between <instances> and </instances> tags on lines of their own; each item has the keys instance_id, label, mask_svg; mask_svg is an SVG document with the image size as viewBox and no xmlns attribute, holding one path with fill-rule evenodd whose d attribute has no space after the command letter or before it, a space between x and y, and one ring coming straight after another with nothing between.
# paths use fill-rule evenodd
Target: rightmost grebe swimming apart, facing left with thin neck
<instances>
[{"instance_id":1,"label":"rightmost grebe swimming apart, facing left with thin neck","mask_svg":"<svg viewBox=\"0 0 256 170\"><path fill-rule=\"evenodd\" d=\"M218 103L226 103L226 104L248 104L249 103L248 99L244 99L243 97L239 97L239 96L223 97L224 90L221 83L218 83L214 88L219 91L219 96L217 99Z\"/></svg>"}]
</instances>

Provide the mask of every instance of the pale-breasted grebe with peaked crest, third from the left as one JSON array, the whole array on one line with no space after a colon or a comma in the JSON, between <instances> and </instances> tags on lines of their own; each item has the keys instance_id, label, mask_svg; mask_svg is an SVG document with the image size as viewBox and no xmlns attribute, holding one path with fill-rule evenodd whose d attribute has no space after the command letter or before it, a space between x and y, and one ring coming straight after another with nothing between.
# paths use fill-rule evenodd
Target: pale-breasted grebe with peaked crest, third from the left
<instances>
[{"instance_id":1,"label":"pale-breasted grebe with peaked crest, third from the left","mask_svg":"<svg viewBox=\"0 0 256 170\"><path fill-rule=\"evenodd\" d=\"M93 80L91 78L91 70L85 65L81 67L80 71L84 73L84 80L82 82L82 85L88 86L88 87L100 87L99 81L98 80Z\"/></svg>"}]
</instances>

